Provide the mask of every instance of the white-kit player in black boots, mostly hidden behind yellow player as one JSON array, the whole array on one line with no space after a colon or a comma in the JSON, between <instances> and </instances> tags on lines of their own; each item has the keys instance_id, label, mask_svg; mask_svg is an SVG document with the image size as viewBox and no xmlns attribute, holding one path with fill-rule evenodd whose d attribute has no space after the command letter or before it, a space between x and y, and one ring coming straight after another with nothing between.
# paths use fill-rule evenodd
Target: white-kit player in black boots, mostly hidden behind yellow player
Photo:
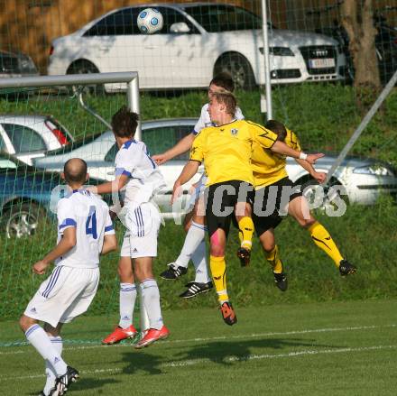
<instances>
[{"instance_id":1,"label":"white-kit player in black boots, mostly hidden behind yellow player","mask_svg":"<svg viewBox=\"0 0 397 396\"><path fill-rule=\"evenodd\" d=\"M225 89L229 92L234 91L235 85L233 83L233 79L228 73L219 73L209 83L208 99L211 99L214 92ZM244 119L244 115L239 107L236 107L235 119ZM180 140L179 143L177 143L167 152L153 155L152 159L157 161L158 164L162 164L183 152L189 151L195 137L200 133L201 129L208 126L213 126L213 124L211 123L208 115L207 103L201 108L200 117L194 127L193 132L185 136L182 140ZM193 262L196 271L196 277L194 281L191 281L186 285L188 289L180 294L180 298L182 299L190 299L192 297L198 296L201 293L211 290L213 287L212 281L208 275L206 243L204 240L207 232L205 216L203 216L205 210L202 209L202 193L204 191L205 181L206 177L203 176L195 185L195 192L192 195L190 201L193 210L188 216L185 217L185 230L188 234L186 235L185 243L183 244L183 247L180 251L180 255L175 262L168 264L168 269L162 272L160 275L165 280L176 280L180 278L181 275L188 272L189 260Z\"/></svg>"}]
</instances>

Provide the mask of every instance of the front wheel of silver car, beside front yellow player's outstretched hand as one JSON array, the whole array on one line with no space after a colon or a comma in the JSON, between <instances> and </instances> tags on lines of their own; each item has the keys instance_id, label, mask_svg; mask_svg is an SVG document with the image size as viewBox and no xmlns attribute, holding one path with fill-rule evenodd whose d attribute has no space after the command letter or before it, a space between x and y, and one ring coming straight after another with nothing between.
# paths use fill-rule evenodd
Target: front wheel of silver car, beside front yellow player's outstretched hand
<instances>
[{"instance_id":1,"label":"front wheel of silver car, beside front yellow player's outstretched hand","mask_svg":"<svg viewBox=\"0 0 397 396\"><path fill-rule=\"evenodd\" d=\"M297 182L296 184L300 184ZM320 185L317 180L307 180L301 183L303 196L308 199L310 207L325 212L334 212L340 200L348 204L344 186L337 179L331 179L327 185Z\"/></svg>"}]
</instances>

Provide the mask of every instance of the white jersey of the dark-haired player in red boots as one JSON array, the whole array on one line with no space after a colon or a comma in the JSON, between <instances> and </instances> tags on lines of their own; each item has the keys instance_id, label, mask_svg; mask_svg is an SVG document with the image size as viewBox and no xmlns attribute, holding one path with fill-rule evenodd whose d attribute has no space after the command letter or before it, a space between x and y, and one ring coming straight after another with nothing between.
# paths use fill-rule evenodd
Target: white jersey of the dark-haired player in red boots
<instances>
[{"instance_id":1,"label":"white jersey of the dark-haired player in red boots","mask_svg":"<svg viewBox=\"0 0 397 396\"><path fill-rule=\"evenodd\" d=\"M143 142L130 140L115 154L115 176L129 177L125 185L125 205L149 202L165 186L162 172L152 160Z\"/></svg>"}]
</instances>

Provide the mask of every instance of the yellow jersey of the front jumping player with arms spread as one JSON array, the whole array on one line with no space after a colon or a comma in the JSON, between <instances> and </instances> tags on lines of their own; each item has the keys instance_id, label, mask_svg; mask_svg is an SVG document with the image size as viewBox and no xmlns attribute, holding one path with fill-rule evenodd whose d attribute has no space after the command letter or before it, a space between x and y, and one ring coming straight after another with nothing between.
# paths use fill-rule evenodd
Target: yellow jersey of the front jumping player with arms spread
<instances>
[{"instance_id":1,"label":"yellow jersey of the front jumping player with arms spread","mask_svg":"<svg viewBox=\"0 0 397 396\"><path fill-rule=\"evenodd\" d=\"M253 144L269 149L277 134L262 125L237 120L203 128L190 149L191 161L204 161L207 186L230 180L254 184L251 167Z\"/></svg>"}]
</instances>

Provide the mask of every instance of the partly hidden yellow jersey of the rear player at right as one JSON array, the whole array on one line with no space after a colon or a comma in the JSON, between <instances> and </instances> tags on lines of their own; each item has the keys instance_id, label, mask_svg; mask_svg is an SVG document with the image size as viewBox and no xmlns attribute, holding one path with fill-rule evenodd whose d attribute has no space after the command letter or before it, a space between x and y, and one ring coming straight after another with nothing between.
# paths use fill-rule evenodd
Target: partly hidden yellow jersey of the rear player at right
<instances>
[{"instance_id":1,"label":"partly hidden yellow jersey of the rear player at right","mask_svg":"<svg viewBox=\"0 0 397 396\"><path fill-rule=\"evenodd\" d=\"M289 129L287 129L287 136L284 143L300 152L298 137ZM263 149L258 143L254 143L251 164L255 189L262 189L265 186L270 186L276 181L288 177L287 170L285 169L286 157Z\"/></svg>"}]
</instances>

